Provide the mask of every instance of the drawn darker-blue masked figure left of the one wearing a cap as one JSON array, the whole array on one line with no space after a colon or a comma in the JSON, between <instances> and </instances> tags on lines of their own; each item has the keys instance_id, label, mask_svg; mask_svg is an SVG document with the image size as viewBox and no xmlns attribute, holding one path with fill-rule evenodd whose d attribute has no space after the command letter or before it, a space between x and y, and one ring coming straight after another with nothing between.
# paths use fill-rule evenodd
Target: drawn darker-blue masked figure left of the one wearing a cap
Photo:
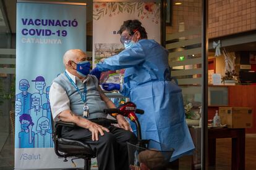
<instances>
[{"instance_id":1,"label":"drawn darker-blue masked figure left of the one wearing a cap","mask_svg":"<svg viewBox=\"0 0 256 170\"><path fill-rule=\"evenodd\" d=\"M27 79L21 79L19 82L19 89L22 92L16 95L16 100L20 99L20 102L22 103L21 111L19 113L20 115L24 113L28 114L28 111L30 110L30 102L31 102L32 94L28 92L28 88L29 88L29 84Z\"/></svg>"}]
</instances>

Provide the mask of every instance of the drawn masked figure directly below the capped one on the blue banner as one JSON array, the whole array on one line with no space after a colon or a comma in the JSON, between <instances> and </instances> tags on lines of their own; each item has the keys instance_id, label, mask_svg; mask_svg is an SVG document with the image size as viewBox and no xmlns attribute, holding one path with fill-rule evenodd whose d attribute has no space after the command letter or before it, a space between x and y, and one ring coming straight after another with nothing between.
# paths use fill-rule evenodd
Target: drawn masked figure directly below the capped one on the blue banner
<instances>
[{"instance_id":1,"label":"drawn masked figure directly below the capped one on the blue banner","mask_svg":"<svg viewBox=\"0 0 256 170\"><path fill-rule=\"evenodd\" d=\"M41 118L41 116L43 116L43 108L40 107L41 95L39 93L34 93L32 94L31 99L32 99L32 104L31 104L31 109L29 113L33 121L37 122L38 119ZM35 131L35 127L33 131Z\"/></svg>"}]
</instances>

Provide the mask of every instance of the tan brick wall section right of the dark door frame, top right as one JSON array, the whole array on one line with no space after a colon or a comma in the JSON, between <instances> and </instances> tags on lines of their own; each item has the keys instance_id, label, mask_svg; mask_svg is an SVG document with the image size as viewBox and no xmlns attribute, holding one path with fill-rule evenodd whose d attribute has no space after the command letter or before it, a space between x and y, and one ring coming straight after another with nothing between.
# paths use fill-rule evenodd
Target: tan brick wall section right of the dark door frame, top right
<instances>
[{"instance_id":1,"label":"tan brick wall section right of the dark door frame, top right","mask_svg":"<svg viewBox=\"0 0 256 170\"><path fill-rule=\"evenodd\" d=\"M256 30L255 0L209 0L209 38Z\"/></svg>"}]
</instances>

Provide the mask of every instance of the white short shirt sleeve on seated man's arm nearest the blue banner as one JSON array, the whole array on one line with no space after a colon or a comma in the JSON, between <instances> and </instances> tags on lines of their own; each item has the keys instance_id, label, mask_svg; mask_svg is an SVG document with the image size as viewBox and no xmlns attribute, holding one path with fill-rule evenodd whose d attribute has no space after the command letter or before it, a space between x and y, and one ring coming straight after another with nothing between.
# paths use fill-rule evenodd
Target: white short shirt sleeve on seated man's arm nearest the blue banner
<instances>
[{"instance_id":1,"label":"white short shirt sleeve on seated man's arm nearest the blue banner","mask_svg":"<svg viewBox=\"0 0 256 170\"><path fill-rule=\"evenodd\" d=\"M70 110L69 97L67 96L66 91L58 83L51 84L49 102L54 121L59 121L58 115L61 111Z\"/></svg>"}]
</instances>

